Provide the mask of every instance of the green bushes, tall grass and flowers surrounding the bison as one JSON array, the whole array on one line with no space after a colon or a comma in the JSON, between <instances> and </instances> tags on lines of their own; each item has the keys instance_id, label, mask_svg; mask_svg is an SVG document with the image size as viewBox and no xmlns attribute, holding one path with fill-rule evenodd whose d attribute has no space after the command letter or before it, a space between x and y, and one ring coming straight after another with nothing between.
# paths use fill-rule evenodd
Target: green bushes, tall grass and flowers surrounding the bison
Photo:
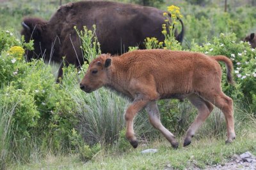
<instances>
[{"instance_id":1,"label":"green bushes, tall grass and flowers surrounding the bison","mask_svg":"<svg viewBox=\"0 0 256 170\"><path fill-rule=\"evenodd\" d=\"M58 64L25 62L24 49L31 49L33 42L20 38L22 18L49 20L60 4L68 2L0 0L0 169L205 168L223 164L245 151L256 155L256 52L243 42L256 30L255 0L119 1L164 11L172 4L180 7L186 30L182 46L165 35L164 45L149 38L145 41L147 48L221 54L234 63L237 84L232 87L226 83L223 66L223 90L234 99L237 139L231 145L224 144L225 120L215 109L191 146L178 150L172 150L152 128L145 111L136 117L134 127L140 146L133 150L124 132L124 111L129 101L106 89L93 94L82 92L79 80L88 65L78 72L72 66L65 68L62 83L56 84ZM179 24L176 26L180 29ZM77 33L81 39L94 36L86 28ZM89 49L92 57L99 53L93 46ZM182 136L196 117L195 108L188 101L176 100L159 101L159 108L164 126L182 143ZM159 152L141 155L146 148Z\"/></svg>"}]
</instances>

